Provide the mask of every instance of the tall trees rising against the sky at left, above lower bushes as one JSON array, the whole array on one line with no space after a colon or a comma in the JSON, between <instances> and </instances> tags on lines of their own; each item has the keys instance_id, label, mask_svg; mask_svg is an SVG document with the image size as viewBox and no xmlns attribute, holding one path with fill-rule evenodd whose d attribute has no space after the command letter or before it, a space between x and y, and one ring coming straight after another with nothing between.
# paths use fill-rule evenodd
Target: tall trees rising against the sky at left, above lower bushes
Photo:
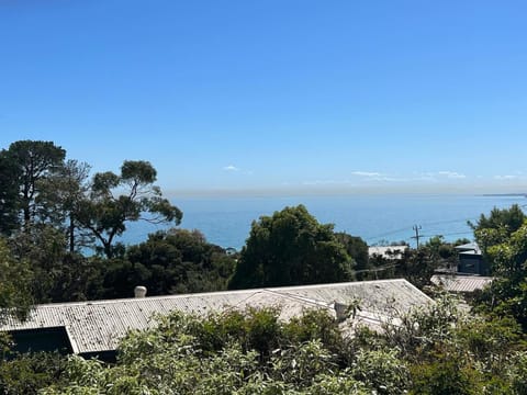
<instances>
[{"instance_id":1,"label":"tall trees rising against the sky at left, above lower bushes","mask_svg":"<svg viewBox=\"0 0 527 395\"><path fill-rule=\"evenodd\" d=\"M1 234L51 224L65 233L70 252L88 247L76 244L88 233L112 258L114 238L127 222L180 223L181 211L154 184L157 172L149 162L125 160L120 174L100 172L88 182L89 166L65 158L66 150L52 142L21 140L0 151Z\"/></svg>"}]
</instances>

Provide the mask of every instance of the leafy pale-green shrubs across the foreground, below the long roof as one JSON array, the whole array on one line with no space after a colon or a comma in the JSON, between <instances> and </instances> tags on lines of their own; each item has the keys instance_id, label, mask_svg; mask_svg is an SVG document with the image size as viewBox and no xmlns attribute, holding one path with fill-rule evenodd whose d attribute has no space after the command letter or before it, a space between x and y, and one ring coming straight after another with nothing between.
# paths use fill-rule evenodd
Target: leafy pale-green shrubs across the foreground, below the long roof
<instances>
[{"instance_id":1,"label":"leafy pale-green shrubs across the foreground, below the long roof","mask_svg":"<svg viewBox=\"0 0 527 395\"><path fill-rule=\"evenodd\" d=\"M382 332L322 311L206 317L172 313L122 340L117 362L35 354L0 365L7 394L525 394L527 352L514 320L461 313L439 297ZM45 361L46 363L43 363ZM3 387L2 387L3 386Z\"/></svg>"}]
</instances>

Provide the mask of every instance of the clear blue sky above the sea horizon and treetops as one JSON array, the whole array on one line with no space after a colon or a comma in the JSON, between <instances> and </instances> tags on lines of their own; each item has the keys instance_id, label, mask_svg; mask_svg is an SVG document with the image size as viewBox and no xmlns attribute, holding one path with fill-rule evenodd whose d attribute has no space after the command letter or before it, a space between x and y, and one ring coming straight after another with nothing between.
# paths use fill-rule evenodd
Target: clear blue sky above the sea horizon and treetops
<instances>
[{"instance_id":1,"label":"clear blue sky above the sea horizon and treetops","mask_svg":"<svg viewBox=\"0 0 527 395\"><path fill-rule=\"evenodd\" d=\"M0 0L0 148L166 193L527 191L527 2Z\"/></svg>"}]
</instances>

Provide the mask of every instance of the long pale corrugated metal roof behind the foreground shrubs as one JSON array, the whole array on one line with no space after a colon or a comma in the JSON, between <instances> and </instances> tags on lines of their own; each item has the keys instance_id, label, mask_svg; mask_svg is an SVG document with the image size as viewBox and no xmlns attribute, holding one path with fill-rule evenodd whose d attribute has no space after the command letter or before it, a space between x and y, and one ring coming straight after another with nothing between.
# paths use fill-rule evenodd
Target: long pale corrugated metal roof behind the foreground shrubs
<instances>
[{"instance_id":1,"label":"long pale corrugated metal roof behind the foreground shrubs","mask_svg":"<svg viewBox=\"0 0 527 395\"><path fill-rule=\"evenodd\" d=\"M379 326L382 317L394 311L406 312L431 302L405 280L381 280L36 305L25 321L8 318L0 330L64 327L74 352L97 353L115 350L119 340L131 329L155 326L156 314L181 311L205 315L227 308L278 306L280 318L288 320L309 308L335 312L336 301L344 304L359 301L358 318L373 326Z\"/></svg>"}]
</instances>

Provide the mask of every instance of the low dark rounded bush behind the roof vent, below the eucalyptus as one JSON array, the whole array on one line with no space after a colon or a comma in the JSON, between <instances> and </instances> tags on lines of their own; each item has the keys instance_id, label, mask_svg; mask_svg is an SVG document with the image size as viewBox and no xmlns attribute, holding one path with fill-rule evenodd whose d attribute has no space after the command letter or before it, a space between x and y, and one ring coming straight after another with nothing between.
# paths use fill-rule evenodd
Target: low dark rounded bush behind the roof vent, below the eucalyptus
<instances>
[{"instance_id":1,"label":"low dark rounded bush behind the roof vent, below the eucalyptus","mask_svg":"<svg viewBox=\"0 0 527 395\"><path fill-rule=\"evenodd\" d=\"M127 248L123 259L110 261L98 296L131 295L137 284L149 295L225 290L234 267L235 258L198 230L158 232Z\"/></svg>"}]
</instances>

